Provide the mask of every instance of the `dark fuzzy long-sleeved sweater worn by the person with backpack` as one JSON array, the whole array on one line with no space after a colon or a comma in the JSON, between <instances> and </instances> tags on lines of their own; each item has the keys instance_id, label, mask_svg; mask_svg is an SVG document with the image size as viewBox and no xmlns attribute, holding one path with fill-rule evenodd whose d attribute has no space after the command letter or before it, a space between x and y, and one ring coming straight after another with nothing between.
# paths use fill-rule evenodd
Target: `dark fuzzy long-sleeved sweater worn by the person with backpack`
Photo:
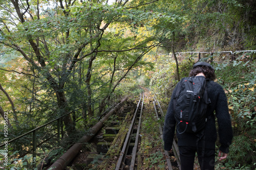
<instances>
[{"instance_id":1,"label":"dark fuzzy long-sleeved sweater worn by the person with backpack","mask_svg":"<svg viewBox=\"0 0 256 170\"><path fill-rule=\"evenodd\" d=\"M209 81L206 84L208 89L208 97L211 104L207 108L207 122L205 126L205 148L215 149L215 142L217 140L217 130L215 124L215 117L218 119L218 132L220 138L220 151L228 153L229 145L233 137L230 115L228 112L227 98L223 88L214 81ZM168 110L165 116L163 128L164 150L172 149L174 140L174 133L176 127L176 120L174 118L173 96L176 93L178 85L173 91ZM214 113L215 111L215 113ZM202 140L198 141L198 137L193 133L176 133L179 146L202 147ZM198 145L197 145L198 144Z\"/></svg>"}]
</instances>

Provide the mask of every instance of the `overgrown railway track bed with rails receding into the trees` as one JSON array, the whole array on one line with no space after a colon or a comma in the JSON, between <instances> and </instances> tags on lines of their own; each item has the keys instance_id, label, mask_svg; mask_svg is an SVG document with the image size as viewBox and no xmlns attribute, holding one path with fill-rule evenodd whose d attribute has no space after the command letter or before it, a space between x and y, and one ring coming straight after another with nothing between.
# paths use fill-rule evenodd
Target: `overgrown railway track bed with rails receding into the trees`
<instances>
[{"instance_id":1,"label":"overgrown railway track bed with rails receding into the trees","mask_svg":"<svg viewBox=\"0 0 256 170\"><path fill-rule=\"evenodd\" d=\"M142 89L136 104L133 103L132 107L123 106L124 112L116 114L125 115L122 123L118 127L105 127L97 136L98 143L101 143L97 143L97 152L90 153L86 161L83 159L83 165L80 165L83 168L79 169L180 169L176 142L173 152L163 150L162 108L155 95L152 96L148 89ZM115 128L118 129L115 134L106 132ZM113 136L111 142L104 138L107 135ZM105 151L98 151L98 147L105 148Z\"/></svg>"}]
</instances>

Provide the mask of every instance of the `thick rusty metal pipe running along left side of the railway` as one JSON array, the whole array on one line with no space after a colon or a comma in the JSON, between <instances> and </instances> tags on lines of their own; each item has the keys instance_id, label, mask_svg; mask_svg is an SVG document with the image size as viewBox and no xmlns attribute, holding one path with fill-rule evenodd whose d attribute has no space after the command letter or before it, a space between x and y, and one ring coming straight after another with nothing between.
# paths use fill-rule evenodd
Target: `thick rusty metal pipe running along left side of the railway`
<instances>
[{"instance_id":1,"label":"thick rusty metal pipe running along left side of the railway","mask_svg":"<svg viewBox=\"0 0 256 170\"><path fill-rule=\"evenodd\" d=\"M108 114L100 119L100 121L95 124L91 129L89 134L85 135L78 140L66 153L64 153L59 159L57 159L48 169L64 169L78 154L78 152L82 149L82 144L91 140L94 135L103 127L103 123L107 120L112 113L114 113L124 101L128 98L124 98L114 109L112 109Z\"/></svg>"}]
</instances>

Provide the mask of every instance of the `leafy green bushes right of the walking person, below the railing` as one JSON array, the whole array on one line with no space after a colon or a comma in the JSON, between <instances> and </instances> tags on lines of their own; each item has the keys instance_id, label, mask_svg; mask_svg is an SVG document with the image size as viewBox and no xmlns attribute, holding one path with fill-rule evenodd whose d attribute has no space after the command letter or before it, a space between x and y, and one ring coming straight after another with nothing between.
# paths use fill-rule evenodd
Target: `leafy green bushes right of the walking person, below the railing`
<instances>
[{"instance_id":1,"label":"leafy green bushes right of the walking person, below the railing","mask_svg":"<svg viewBox=\"0 0 256 170\"><path fill-rule=\"evenodd\" d=\"M227 93L234 132L228 160L231 163L227 163L252 169L255 168L256 161L256 64L252 60L253 55L241 55L236 61L220 66L218 71L218 82Z\"/></svg>"}]
</instances>

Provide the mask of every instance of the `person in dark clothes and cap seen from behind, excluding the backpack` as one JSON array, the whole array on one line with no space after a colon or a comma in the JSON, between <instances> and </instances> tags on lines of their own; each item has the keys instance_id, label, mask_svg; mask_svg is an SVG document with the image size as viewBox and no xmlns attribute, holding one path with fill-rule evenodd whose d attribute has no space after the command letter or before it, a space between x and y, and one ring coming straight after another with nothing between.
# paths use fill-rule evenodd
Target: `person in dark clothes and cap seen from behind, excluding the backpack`
<instances>
[{"instance_id":1,"label":"person in dark clothes and cap seen from behind, excluding the backpack","mask_svg":"<svg viewBox=\"0 0 256 170\"><path fill-rule=\"evenodd\" d=\"M197 152L201 170L211 170L214 169L215 165L215 142L217 140L215 116L218 119L218 133L221 143L218 155L220 160L227 158L228 148L233 137L227 98L223 88L218 83L214 82L216 79L215 69L209 63L196 63L189 73L189 77L193 76L204 76L206 79L209 79L209 81L206 82L206 87L208 89L208 97L211 104L207 107L206 111L207 122L205 128L202 130L204 137L200 137L199 139L198 133L176 133L180 152L181 169L193 170L195 154ZM176 94L178 85L173 91L164 122L163 139L164 150L166 151L172 149L174 140L176 128L176 120L174 117L174 95Z\"/></svg>"}]
</instances>

